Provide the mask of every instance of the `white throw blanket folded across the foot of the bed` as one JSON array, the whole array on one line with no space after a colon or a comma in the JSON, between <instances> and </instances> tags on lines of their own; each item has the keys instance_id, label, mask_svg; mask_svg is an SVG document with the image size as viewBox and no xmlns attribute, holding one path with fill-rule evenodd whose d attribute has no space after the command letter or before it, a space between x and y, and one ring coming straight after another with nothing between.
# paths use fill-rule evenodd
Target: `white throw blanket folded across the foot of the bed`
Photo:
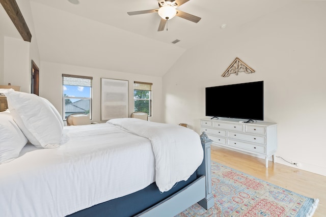
<instances>
[{"instance_id":1,"label":"white throw blanket folded across the foot of the bed","mask_svg":"<svg viewBox=\"0 0 326 217\"><path fill-rule=\"evenodd\" d=\"M155 157L155 181L161 192L187 180L203 161L199 135L188 128L136 118L108 120L121 129L148 138Z\"/></svg>"}]
</instances>

